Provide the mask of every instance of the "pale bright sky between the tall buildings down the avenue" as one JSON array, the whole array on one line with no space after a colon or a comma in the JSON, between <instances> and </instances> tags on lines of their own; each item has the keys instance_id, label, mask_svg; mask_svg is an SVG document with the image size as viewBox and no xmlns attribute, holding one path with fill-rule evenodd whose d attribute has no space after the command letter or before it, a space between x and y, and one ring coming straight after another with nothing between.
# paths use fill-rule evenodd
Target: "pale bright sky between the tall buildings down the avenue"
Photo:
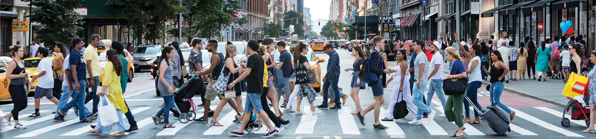
<instances>
[{"instance_id":1,"label":"pale bright sky between the tall buildings down the avenue","mask_svg":"<svg viewBox=\"0 0 596 139\"><path fill-rule=\"evenodd\" d=\"M331 5L331 0L304 0L304 7L311 8L311 20L312 22L312 31L316 31L317 33L321 32L321 26L318 26L318 19L328 20L329 18L329 5ZM321 23L327 23L326 21L321 21Z\"/></svg>"}]
</instances>

